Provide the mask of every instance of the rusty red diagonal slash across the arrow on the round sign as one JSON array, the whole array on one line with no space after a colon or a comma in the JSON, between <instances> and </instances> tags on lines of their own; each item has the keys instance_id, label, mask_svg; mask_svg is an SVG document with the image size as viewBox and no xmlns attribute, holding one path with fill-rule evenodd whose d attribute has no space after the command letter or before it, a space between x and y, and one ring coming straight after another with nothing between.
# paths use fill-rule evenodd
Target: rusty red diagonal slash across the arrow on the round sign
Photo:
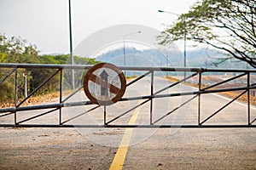
<instances>
[{"instance_id":1,"label":"rusty red diagonal slash across the arrow on the round sign","mask_svg":"<svg viewBox=\"0 0 256 170\"><path fill-rule=\"evenodd\" d=\"M91 74L89 77L89 80L92 82L95 82L96 84L102 86L102 88L109 88L109 91L113 94L119 94L119 88L113 86L113 84L110 84L108 82L102 81L101 77L97 77L94 74Z\"/></svg>"}]
</instances>

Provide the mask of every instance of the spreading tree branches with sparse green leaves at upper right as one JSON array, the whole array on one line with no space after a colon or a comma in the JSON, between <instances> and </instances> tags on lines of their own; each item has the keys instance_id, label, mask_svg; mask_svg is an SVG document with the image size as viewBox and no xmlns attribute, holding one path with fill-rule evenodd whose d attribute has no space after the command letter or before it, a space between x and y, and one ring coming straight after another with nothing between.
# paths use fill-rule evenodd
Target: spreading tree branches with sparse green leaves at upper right
<instances>
[{"instance_id":1,"label":"spreading tree branches with sparse green leaves at upper right","mask_svg":"<svg viewBox=\"0 0 256 170\"><path fill-rule=\"evenodd\" d=\"M160 44L183 38L210 45L227 59L240 59L256 68L256 3L254 0L202 0L177 23L162 31ZM217 64L218 64L217 63Z\"/></svg>"}]
</instances>

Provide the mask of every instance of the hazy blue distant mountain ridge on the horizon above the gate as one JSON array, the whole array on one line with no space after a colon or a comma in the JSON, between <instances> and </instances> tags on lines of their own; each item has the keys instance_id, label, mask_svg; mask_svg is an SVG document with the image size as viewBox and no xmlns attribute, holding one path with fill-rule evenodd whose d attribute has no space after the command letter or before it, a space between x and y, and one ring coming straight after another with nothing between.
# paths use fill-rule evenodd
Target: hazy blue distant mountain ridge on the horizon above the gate
<instances>
[{"instance_id":1,"label":"hazy blue distant mountain ridge on the horizon above the gate","mask_svg":"<svg viewBox=\"0 0 256 170\"><path fill-rule=\"evenodd\" d=\"M187 51L187 67L207 67L207 68L247 68L245 62L237 59L227 60L220 65L213 65L221 58L216 50L199 49ZM113 63L114 65L136 65L136 66L181 66L183 67L183 53L177 51L160 52L156 49L139 50L137 48L125 48L125 64L124 64L124 48L117 48L101 54L96 60Z\"/></svg>"}]
</instances>

